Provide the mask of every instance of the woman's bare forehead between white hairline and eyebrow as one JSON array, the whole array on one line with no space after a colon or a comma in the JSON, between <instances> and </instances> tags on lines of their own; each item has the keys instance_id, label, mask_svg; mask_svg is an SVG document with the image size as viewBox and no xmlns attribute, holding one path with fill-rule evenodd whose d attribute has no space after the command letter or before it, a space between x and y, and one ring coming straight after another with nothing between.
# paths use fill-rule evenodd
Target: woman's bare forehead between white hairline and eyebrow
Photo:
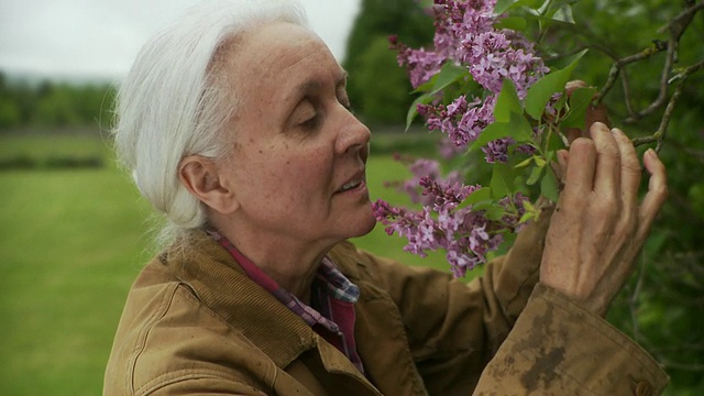
<instances>
[{"instance_id":1,"label":"woman's bare forehead between white hairline and eyebrow","mask_svg":"<svg viewBox=\"0 0 704 396\"><path fill-rule=\"evenodd\" d=\"M245 34L233 56L233 79L242 94L276 91L294 95L301 85L334 82L344 70L328 46L308 29L292 23L273 23ZM258 95L256 95L258 96Z\"/></svg>"}]
</instances>

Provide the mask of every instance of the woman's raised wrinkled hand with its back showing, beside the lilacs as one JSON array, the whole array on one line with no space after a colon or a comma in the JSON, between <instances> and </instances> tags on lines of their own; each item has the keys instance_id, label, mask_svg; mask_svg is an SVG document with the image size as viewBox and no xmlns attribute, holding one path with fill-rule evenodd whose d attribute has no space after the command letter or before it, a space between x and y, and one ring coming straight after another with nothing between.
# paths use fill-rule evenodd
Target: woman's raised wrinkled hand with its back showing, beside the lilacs
<instances>
[{"instance_id":1,"label":"woman's raised wrinkled hand with its back showing, beside the lilacs","mask_svg":"<svg viewBox=\"0 0 704 396\"><path fill-rule=\"evenodd\" d=\"M569 156L559 155L566 177L548 230L540 282L603 316L631 274L668 188L664 166L649 150L644 156L649 188L639 205L641 169L630 140L601 122L590 134L592 140L572 142Z\"/></svg>"}]
</instances>

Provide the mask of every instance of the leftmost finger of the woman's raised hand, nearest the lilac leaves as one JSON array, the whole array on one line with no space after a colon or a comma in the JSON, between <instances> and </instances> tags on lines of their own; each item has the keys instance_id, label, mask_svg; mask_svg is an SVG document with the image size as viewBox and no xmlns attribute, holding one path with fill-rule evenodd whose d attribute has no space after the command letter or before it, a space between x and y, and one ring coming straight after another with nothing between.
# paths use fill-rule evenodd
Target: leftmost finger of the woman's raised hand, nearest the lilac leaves
<instances>
[{"instance_id":1,"label":"leftmost finger of the woman's raised hand, nearest the lilac leaves","mask_svg":"<svg viewBox=\"0 0 704 396\"><path fill-rule=\"evenodd\" d=\"M564 205L573 207L588 197L594 186L596 150L588 139L578 139L570 146L564 190L561 198Z\"/></svg>"}]
</instances>

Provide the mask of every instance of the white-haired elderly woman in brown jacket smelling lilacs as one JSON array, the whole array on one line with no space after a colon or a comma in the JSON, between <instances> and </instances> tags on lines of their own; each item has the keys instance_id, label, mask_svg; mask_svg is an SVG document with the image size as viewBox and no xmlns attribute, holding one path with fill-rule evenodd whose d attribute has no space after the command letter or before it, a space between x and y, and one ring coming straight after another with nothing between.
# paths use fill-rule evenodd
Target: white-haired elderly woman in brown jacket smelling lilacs
<instances>
[{"instance_id":1,"label":"white-haired elderly woman in brown jacket smelling lilacs","mask_svg":"<svg viewBox=\"0 0 704 396\"><path fill-rule=\"evenodd\" d=\"M646 395L667 376L603 319L667 196L601 123L554 213L469 285L345 242L374 227L370 131L294 1L201 6L151 40L116 143L167 219L106 395Z\"/></svg>"}]
</instances>

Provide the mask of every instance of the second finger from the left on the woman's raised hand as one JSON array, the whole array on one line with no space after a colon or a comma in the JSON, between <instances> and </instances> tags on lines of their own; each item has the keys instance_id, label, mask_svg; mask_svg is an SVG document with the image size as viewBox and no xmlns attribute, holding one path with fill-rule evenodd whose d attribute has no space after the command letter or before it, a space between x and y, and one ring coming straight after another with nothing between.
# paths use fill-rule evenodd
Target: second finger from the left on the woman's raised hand
<instances>
[{"instance_id":1,"label":"second finger from the left on the woman's raised hand","mask_svg":"<svg viewBox=\"0 0 704 396\"><path fill-rule=\"evenodd\" d=\"M620 153L614 134L605 124L595 123L590 133L596 147L594 191L601 199L607 199L620 191Z\"/></svg>"}]
</instances>

